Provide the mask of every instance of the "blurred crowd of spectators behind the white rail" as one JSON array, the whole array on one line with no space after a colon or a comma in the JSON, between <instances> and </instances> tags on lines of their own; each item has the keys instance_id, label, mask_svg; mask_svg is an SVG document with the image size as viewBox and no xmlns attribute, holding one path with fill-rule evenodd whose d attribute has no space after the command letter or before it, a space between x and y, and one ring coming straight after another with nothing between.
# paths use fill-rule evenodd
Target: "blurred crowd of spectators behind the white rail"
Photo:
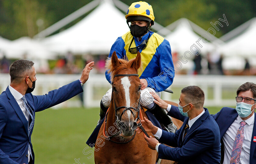
<instances>
[{"instance_id":1,"label":"blurred crowd of spectators behind the white rail","mask_svg":"<svg viewBox=\"0 0 256 164\"><path fill-rule=\"evenodd\" d=\"M26 56L26 55L24 55ZM105 61L108 55L73 55L71 52L67 52L64 56L59 56L56 60L48 60L44 63L37 73L45 74L79 74L85 67L85 65L91 61L95 62L94 74L105 73ZM178 60L178 53L172 52L173 62ZM26 59L26 58L24 58ZM3 55L0 60L0 73L9 73L9 66L15 59L7 59ZM224 70L222 67L223 55L217 52L206 55L194 55L193 69L181 69L177 74L189 74L189 75L255 75L255 69L251 68L249 59L244 58L244 69L241 70ZM36 62L35 62L36 63ZM36 66L36 65L35 65ZM37 67L37 66L36 66Z\"/></svg>"}]
</instances>

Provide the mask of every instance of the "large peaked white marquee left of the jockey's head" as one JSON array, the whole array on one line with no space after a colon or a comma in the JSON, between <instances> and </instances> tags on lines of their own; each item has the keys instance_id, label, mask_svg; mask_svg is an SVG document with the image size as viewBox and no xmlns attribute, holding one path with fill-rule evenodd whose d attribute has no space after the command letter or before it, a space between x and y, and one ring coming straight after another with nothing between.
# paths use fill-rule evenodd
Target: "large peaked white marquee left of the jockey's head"
<instances>
[{"instance_id":1,"label":"large peaked white marquee left of the jockey's head","mask_svg":"<svg viewBox=\"0 0 256 164\"><path fill-rule=\"evenodd\" d=\"M108 54L117 37L129 31L124 14L110 0L104 0L80 22L45 38L52 52Z\"/></svg>"}]
</instances>

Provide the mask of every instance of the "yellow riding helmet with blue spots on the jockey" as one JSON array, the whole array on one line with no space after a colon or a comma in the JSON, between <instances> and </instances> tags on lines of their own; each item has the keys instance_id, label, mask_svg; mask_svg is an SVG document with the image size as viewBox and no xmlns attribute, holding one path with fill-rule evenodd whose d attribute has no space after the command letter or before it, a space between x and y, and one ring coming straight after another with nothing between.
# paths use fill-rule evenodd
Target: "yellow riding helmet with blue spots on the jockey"
<instances>
[{"instance_id":1,"label":"yellow riding helmet with blue spots on the jockey","mask_svg":"<svg viewBox=\"0 0 256 164\"><path fill-rule=\"evenodd\" d=\"M142 1L132 3L128 8L125 18L126 22L148 21L151 22L151 25L154 24L155 20L152 6Z\"/></svg>"}]
</instances>

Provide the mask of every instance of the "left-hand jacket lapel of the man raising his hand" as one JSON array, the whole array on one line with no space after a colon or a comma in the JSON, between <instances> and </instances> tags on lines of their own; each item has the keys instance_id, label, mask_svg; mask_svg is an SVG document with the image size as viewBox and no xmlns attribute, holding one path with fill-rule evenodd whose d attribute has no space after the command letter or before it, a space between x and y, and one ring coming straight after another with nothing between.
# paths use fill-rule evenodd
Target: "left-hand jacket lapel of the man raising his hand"
<instances>
[{"instance_id":1,"label":"left-hand jacket lapel of the man raising his hand","mask_svg":"<svg viewBox=\"0 0 256 164\"><path fill-rule=\"evenodd\" d=\"M7 87L7 89L5 90L5 93L6 93L7 97L9 98L9 103L12 105L12 108L14 109L14 111L16 112L18 117L20 118L20 121L23 123L23 126L24 126L24 128L27 132L27 136L28 136L28 121L27 121L25 115L23 114L22 110L20 109L20 106L18 105L18 103L16 102L12 93L10 92L9 87Z\"/></svg>"}]
</instances>

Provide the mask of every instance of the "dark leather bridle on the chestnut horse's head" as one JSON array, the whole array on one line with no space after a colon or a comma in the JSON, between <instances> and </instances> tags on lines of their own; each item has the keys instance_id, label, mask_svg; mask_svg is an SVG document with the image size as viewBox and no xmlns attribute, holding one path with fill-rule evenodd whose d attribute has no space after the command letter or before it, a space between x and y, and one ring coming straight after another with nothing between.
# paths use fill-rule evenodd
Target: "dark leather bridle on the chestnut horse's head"
<instances>
[{"instance_id":1,"label":"dark leather bridle on the chestnut horse's head","mask_svg":"<svg viewBox=\"0 0 256 164\"><path fill-rule=\"evenodd\" d=\"M138 76L138 77L139 77L138 74L117 74L117 75L114 75L113 81L114 81L114 78L115 78L116 76ZM120 122L121 122L121 120L122 120L122 115L126 112L126 110L130 110L130 112L132 113L134 119L135 119L134 112L133 112L131 109L137 111L138 113L137 113L137 118L135 119L135 121L137 122L138 120L140 120L140 99L139 99L139 102L138 102L138 108L134 108L134 107L131 107L131 106L130 106L130 107L126 107L126 106L116 107L116 102L115 102L115 98L114 98L114 95L113 95L113 90L114 90L114 89L113 89L113 82L112 82L112 96L111 96L111 101L113 101L113 104L114 104L115 117L116 117L116 125L119 126L119 124L120 124ZM121 108L125 108L125 109L123 110L122 114L120 115L120 119L119 119L119 118L118 118L118 115L117 115L117 110L119 110L119 109L121 109ZM106 114L106 117L107 117L107 114ZM141 122L141 120L140 120L140 122ZM141 123L140 123L140 122L137 124L137 126L140 126L140 127L141 127ZM107 119L105 118L105 125L106 125L106 123L107 123ZM104 129L104 131L105 131L105 129ZM121 130L119 129L119 131L116 132L116 134L114 134L114 135L112 135L112 136L109 136L109 140L112 141L111 139L112 139L113 137L117 136L117 135L120 134L120 133L121 133ZM130 139L129 141L126 141L126 142L116 142L116 141L112 141L112 142L115 142L115 143L122 143L122 144L128 143L128 142L130 142L131 140L134 139L135 135L136 135L136 132L134 133L133 138Z\"/></svg>"}]
</instances>

